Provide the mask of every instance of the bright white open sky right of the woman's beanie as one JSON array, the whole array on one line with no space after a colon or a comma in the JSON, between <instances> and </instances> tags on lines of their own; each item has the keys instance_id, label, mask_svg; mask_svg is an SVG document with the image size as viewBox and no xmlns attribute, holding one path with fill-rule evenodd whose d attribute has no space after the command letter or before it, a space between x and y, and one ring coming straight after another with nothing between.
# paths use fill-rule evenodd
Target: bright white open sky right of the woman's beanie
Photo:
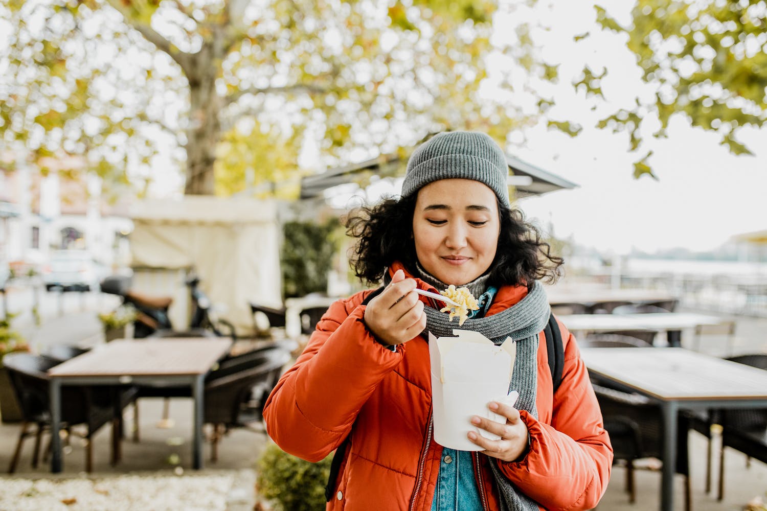
<instances>
[{"instance_id":1,"label":"bright white open sky right of the woman's beanie","mask_svg":"<svg viewBox=\"0 0 767 511\"><path fill-rule=\"evenodd\" d=\"M633 2L606 2L611 15L627 21ZM639 71L623 40L597 34L575 44L594 19L592 2L555 2L547 18L551 31L539 34L543 51L561 61L560 76L577 76L584 62L594 74L607 67L602 88L615 106L630 106L641 92ZM617 8L616 8L617 5ZM627 135L593 128L595 115L584 95L576 95L569 80L555 96L557 112L584 126L576 138L537 126L519 148L510 148L525 159L565 179L578 183L573 191L553 192L520 203L528 218L554 226L557 237L572 237L578 244L623 253L637 247L644 251L686 247L709 250L733 234L767 229L767 129L742 131L739 136L755 156L733 156L719 146L716 134L693 129L679 117L668 139L647 137L638 154L628 153ZM657 126L648 126L651 133ZM633 178L632 163L653 150L650 166L658 177Z\"/></svg>"}]
</instances>

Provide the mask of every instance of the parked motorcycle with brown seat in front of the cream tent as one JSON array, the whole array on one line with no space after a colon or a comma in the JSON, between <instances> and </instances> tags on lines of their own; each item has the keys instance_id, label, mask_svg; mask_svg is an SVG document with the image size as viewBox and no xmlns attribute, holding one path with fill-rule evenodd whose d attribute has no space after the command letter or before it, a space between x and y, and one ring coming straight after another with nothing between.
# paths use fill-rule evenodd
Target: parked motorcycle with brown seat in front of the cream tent
<instances>
[{"instance_id":1,"label":"parked motorcycle with brown seat in front of the cream tent","mask_svg":"<svg viewBox=\"0 0 767 511\"><path fill-rule=\"evenodd\" d=\"M130 306L136 311L133 320L133 337L140 339L148 336L167 336L183 333L211 332L213 336L231 336L236 340L235 327L217 316L208 296L199 288L199 277L192 275L186 279L192 304L192 316L189 327L183 332L175 332L170 321L168 309L173 303L172 296L152 296L131 290L132 277L112 275L101 281L101 292L120 296L122 306Z\"/></svg>"}]
</instances>

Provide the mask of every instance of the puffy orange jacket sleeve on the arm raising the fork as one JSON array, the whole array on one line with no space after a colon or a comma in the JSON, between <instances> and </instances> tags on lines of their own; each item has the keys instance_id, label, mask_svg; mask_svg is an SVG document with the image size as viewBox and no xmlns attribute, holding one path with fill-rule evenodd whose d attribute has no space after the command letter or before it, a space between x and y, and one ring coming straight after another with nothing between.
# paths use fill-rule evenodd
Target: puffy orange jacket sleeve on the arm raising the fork
<instances>
[{"instance_id":1,"label":"puffy orange jacket sleeve on the arm raising the fork","mask_svg":"<svg viewBox=\"0 0 767 511\"><path fill-rule=\"evenodd\" d=\"M375 341L363 323L364 297L339 300L269 395L266 430L282 450L317 462L347 437L360 408L401 361Z\"/></svg>"}]
</instances>

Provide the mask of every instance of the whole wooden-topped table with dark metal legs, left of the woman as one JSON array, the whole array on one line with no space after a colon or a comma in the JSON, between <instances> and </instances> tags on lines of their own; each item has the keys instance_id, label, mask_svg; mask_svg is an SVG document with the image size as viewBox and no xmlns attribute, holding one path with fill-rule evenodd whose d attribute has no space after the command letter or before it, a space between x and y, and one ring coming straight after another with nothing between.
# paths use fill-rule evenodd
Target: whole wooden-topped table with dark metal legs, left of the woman
<instances>
[{"instance_id":1,"label":"whole wooden-topped table with dark metal legs, left of the woman","mask_svg":"<svg viewBox=\"0 0 767 511\"><path fill-rule=\"evenodd\" d=\"M51 376L51 472L62 469L61 385L189 385L192 388L195 469L202 468L202 410L205 376L229 351L229 338L120 339L56 365Z\"/></svg>"}]
</instances>

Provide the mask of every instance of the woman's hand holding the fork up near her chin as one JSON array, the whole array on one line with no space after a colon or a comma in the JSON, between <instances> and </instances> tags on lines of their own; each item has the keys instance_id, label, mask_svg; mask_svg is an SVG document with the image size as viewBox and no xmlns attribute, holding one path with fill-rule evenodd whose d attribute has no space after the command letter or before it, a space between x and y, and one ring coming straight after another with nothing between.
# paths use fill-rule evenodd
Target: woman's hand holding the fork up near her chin
<instances>
[{"instance_id":1,"label":"woman's hand holding the fork up near her chin","mask_svg":"<svg viewBox=\"0 0 767 511\"><path fill-rule=\"evenodd\" d=\"M402 344L426 329L426 313L415 288L416 281L397 270L389 285L367 304L365 325L382 344Z\"/></svg>"}]
</instances>

